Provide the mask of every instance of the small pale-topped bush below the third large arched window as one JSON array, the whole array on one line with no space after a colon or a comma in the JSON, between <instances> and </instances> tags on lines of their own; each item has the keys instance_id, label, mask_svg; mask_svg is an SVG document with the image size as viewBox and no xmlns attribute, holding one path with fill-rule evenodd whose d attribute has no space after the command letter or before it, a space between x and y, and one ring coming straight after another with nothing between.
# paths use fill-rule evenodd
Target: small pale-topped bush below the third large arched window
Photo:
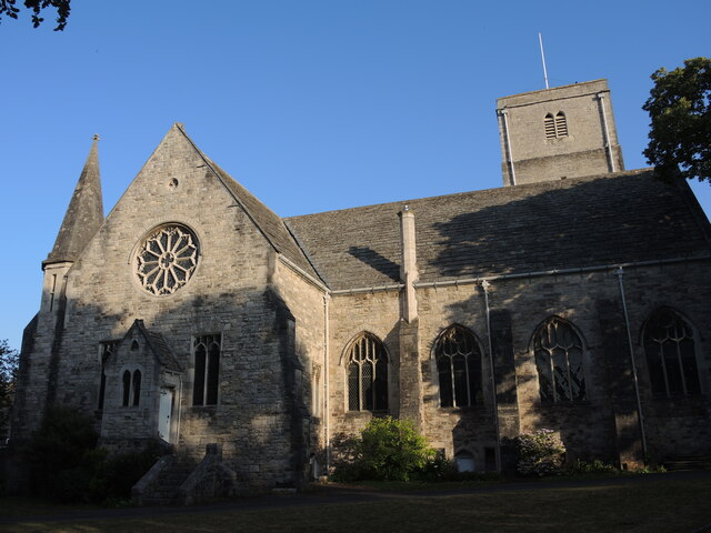
<instances>
[{"instance_id":1,"label":"small pale-topped bush below the third large arched window","mask_svg":"<svg viewBox=\"0 0 711 533\"><path fill-rule=\"evenodd\" d=\"M558 475L563 472L565 446L553 430L523 433L514 439L517 470L521 475Z\"/></svg>"}]
</instances>

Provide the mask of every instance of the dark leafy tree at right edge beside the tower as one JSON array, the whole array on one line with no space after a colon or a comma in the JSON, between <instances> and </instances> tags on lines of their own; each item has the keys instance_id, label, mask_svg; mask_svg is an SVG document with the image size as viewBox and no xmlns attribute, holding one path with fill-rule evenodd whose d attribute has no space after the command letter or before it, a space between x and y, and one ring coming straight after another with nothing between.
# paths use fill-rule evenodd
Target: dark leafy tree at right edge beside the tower
<instances>
[{"instance_id":1,"label":"dark leafy tree at right edge beside the tower","mask_svg":"<svg viewBox=\"0 0 711 533\"><path fill-rule=\"evenodd\" d=\"M654 87L642 109L651 130L644 157L665 180L711 179L711 60L694 58L652 74Z\"/></svg>"}]
</instances>

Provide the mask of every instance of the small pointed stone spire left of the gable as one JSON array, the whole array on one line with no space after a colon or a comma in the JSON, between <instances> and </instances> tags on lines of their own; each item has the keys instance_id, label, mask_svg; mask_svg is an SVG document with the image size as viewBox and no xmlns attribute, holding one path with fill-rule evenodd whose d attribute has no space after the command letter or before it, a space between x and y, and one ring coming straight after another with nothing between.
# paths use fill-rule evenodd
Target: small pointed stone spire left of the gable
<instances>
[{"instance_id":1,"label":"small pointed stone spire left of the gable","mask_svg":"<svg viewBox=\"0 0 711 533\"><path fill-rule=\"evenodd\" d=\"M54 247L43 265L76 261L103 223L103 201L99 175L99 135L93 135L91 150L69 202Z\"/></svg>"}]
</instances>

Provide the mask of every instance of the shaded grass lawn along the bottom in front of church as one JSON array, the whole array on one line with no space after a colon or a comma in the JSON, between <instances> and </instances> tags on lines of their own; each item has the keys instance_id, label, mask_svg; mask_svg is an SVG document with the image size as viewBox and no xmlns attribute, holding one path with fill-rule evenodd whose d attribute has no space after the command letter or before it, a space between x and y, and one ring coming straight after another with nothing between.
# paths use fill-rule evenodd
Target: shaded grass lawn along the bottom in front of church
<instances>
[{"instance_id":1,"label":"shaded grass lawn along the bottom in front of church","mask_svg":"<svg viewBox=\"0 0 711 533\"><path fill-rule=\"evenodd\" d=\"M313 493L317 497L320 491ZM282 496L288 497L288 496ZM309 497L309 496L308 496ZM307 497L307 500L308 500ZM12 509L8 509L9 505ZM27 501L6 501L8 515L56 514ZM23 503L20 503L23 502ZM61 507L67 511L67 507ZM76 507L72 507L76 509ZM20 511L20 512L18 512ZM592 486L534 486L462 495L382 493L375 502L304 505L64 523L22 522L0 532L711 532L711 480L625 482Z\"/></svg>"}]
</instances>

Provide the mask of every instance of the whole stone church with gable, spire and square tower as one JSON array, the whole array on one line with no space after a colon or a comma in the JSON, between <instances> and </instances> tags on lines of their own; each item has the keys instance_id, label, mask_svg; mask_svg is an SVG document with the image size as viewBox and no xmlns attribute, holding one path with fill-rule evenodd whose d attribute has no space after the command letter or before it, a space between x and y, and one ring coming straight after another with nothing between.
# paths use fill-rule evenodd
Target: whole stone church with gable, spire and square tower
<instances>
[{"instance_id":1,"label":"whole stone church with gable, spire and square tower","mask_svg":"<svg viewBox=\"0 0 711 533\"><path fill-rule=\"evenodd\" d=\"M462 470L505 470L502 443L539 429L570 461L710 456L711 231L689 185L624 169L605 80L497 117L501 188L291 218L179 123L104 218L94 141L42 263L13 442L71 406L109 450L160 440L197 465L186 483L211 457L246 491L328 474L384 415Z\"/></svg>"}]
</instances>

